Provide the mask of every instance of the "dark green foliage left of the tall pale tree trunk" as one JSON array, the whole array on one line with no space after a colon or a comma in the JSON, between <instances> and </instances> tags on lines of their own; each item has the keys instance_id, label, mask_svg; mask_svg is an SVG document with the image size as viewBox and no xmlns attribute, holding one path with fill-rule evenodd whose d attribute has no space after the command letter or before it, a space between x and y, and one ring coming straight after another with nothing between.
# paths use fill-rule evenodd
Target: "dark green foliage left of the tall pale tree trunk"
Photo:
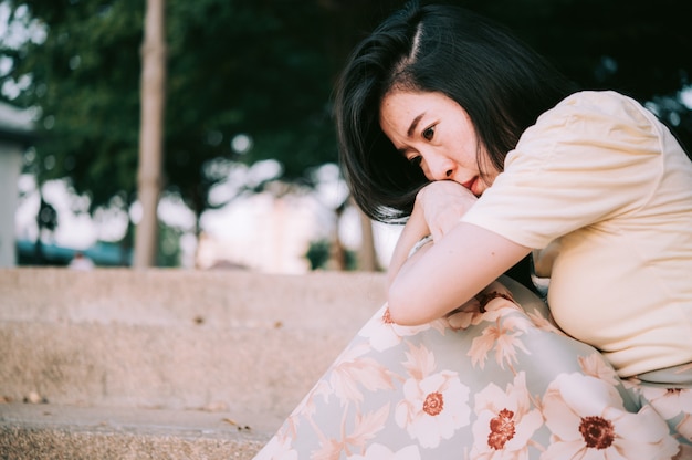
<instances>
[{"instance_id":1,"label":"dark green foliage left of the tall pale tree trunk","mask_svg":"<svg viewBox=\"0 0 692 460\"><path fill-rule=\"evenodd\" d=\"M46 39L6 54L32 80L14 103L41 108L40 180L70 177L96 207L136 189L143 14L136 0L73 3L27 2Z\"/></svg>"}]
</instances>

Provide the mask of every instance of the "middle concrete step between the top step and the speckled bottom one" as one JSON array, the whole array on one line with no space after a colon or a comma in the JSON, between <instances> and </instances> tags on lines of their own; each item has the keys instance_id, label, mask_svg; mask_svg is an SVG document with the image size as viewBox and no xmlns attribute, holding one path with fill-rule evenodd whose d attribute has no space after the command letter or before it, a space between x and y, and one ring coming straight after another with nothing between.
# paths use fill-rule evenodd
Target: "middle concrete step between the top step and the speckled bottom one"
<instances>
[{"instance_id":1,"label":"middle concrete step between the top step and the speckled bottom one","mask_svg":"<svg viewBox=\"0 0 692 460\"><path fill-rule=\"evenodd\" d=\"M0 396L186 410L252 408L277 425L353 334L283 328L0 324Z\"/></svg>"}]
</instances>

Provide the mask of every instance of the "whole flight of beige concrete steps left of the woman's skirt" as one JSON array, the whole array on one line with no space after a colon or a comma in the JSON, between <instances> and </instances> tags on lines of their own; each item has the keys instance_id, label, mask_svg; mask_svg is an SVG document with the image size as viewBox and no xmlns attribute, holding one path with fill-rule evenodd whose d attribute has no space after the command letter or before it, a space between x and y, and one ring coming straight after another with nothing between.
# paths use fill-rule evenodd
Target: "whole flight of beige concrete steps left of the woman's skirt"
<instances>
[{"instance_id":1,"label":"whole flight of beige concrete steps left of the woman's skirt","mask_svg":"<svg viewBox=\"0 0 692 460\"><path fill-rule=\"evenodd\" d=\"M0 459L251 458L382 301L378 273L0 271Z\"/></svg>"}]
</instances>

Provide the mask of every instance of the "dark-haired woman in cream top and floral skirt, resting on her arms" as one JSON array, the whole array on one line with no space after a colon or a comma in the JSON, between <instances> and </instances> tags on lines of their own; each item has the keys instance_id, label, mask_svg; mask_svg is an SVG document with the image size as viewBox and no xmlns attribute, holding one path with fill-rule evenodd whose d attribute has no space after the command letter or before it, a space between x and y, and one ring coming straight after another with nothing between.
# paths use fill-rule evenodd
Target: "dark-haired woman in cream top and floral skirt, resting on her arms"
<instances>
[{"instance_id":1,"label":"dark-haired woman in cream top and floral skirt, resting on her arms","mask_svg":"<svg viewBox=\"0 0 692 460\"><path fill-rule=\"evenodd\" d=\"M692 164L652 114L441 6L356 49L336 113L356 202L407 223L258 459L692 458ZM530 254L549 310L502 276Z\"/></svg>"}]
</instances>

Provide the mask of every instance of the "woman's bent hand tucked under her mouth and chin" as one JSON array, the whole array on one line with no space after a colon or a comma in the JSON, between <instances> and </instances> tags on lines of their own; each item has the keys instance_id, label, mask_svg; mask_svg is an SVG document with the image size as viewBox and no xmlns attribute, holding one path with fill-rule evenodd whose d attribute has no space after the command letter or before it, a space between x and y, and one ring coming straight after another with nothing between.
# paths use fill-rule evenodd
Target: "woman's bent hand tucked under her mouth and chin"
<instances>
[{"instance_id":1,"label":"woman's bent hand tucked under her mouth and chin","mask_svg":"<svg viewBox=\"0 0 692 460\"><path fill-rule=\"evenodd\" d=\"M438 180L423 187L416 197L413 212L422 210L423 219L434 241L449 232L478 198L465 187Z\"/></svg>"}]
</instances>

